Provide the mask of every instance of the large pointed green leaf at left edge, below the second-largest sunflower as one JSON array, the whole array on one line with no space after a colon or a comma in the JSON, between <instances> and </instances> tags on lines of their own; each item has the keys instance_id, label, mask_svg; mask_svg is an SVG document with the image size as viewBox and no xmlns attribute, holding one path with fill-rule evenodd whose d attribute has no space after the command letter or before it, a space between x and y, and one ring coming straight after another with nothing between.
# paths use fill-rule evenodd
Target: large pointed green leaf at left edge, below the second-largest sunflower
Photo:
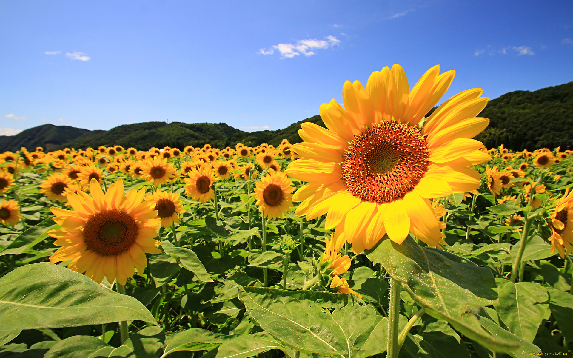
<instances>
[{"instance_id":1,"label":"large pointed green leaf at left edge, below the second-largest sunflower","mask_svg":"<svg viewBox=\"0 0 573 358\"><path fill-rule=\"evenodd\" d=\"M54 263L18 267L0 278L0 329L38 329L142 320L157 324L135 298Z\"/></svg>"}]
</instances>

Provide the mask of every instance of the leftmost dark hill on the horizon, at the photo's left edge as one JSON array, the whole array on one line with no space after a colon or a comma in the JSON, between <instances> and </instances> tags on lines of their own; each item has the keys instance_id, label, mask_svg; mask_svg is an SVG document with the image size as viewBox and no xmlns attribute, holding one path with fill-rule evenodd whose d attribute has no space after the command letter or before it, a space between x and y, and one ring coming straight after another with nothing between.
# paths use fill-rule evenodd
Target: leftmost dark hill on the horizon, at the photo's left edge
<instances>
[{"instance_id":1,"label":"leftmost dark hill on the horizon, at the photo's left edge","mask_svg":"<svg viewBox=\"0 0 573 358\"><path fill-rule=\"evenodd\" d=\"M36 150L36 147L42 147L46 151L51 151L70 140L78 137L88 138L99 132L105 131L89 131L67 125L44 124L26 129L14 136L0 136L0 152L14 152L21 147L32 151Z\"/></svg>"}]
</instances>

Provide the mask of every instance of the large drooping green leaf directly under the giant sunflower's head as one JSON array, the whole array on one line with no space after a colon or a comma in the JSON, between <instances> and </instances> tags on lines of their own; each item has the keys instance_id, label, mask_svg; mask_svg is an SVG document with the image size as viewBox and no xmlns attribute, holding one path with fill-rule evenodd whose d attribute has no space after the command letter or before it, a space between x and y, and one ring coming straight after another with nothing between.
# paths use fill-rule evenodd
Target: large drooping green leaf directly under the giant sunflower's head
<instances>
[{"instance_id":1,"label":"large drooping green leaf directly under the giant sunflower's head","mask_svg":"<svg viewBox=\"0 0 573 358\"><path fill-rule=\"evenodd\" d=\"M489 306L497 299L491 270L439 249L418 246L411 237L402 244L384 239L366 255L382 263L418 305L435 318L450 322L458 331L492 351L509 351L511 342L494 339L481 328L468 306Z\"/></svg>"}]
</instances>

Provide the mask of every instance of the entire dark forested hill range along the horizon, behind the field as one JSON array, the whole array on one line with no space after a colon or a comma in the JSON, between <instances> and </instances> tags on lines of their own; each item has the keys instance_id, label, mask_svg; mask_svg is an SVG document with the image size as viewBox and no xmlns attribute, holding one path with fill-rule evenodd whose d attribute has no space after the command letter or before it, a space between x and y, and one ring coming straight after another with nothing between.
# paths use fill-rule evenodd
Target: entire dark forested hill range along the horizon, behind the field
<instances>
[{"instance_id":1,"label":"entire dark forested hill range along the horizon, behind the field","mask_svg":"<svg viewBox=\"0 0 573 358\"><path fill-rule=\"evenodd\" d=\"M432 111L430 111L431 113ZM430 114L428 113L428 114ZM573 149L573 82L537 91L514 91L489 101L478 117L490 119L489 127L477 136L486 147L504 144L512 150L562 147ZM109 131L88 131L52 124L26 129L15 136L0 136L0 152L97 148L100 145L122 145L148 150L151 147L184 148L210 143L213 147L234 147L241 142L255 146L269 143L277 146L283 138L291 143L301 141L300 124L311 121L324 127L320 116L313 116L276 131L244 132L225 123L146 122L120 125Z\"/></svg>"}]
</instances>

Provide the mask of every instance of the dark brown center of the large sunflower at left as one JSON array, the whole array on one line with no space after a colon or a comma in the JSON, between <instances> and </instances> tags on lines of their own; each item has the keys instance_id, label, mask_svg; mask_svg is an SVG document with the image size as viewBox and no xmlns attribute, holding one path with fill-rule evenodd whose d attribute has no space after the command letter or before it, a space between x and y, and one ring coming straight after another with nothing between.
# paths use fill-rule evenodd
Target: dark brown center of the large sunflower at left
<instances>
[{"instance_id":1,"label":"dark brown center of the large sunflower at left","mask_svg":"<svg viewBox=\"0 0 573 358\"><path fill-rule=\"evenodd\" d=\"M84 226L85 245L102 256L119 255L133 245L138 231L134 218L125 211L100 211Z\"/></svg>"}]
</instances>

